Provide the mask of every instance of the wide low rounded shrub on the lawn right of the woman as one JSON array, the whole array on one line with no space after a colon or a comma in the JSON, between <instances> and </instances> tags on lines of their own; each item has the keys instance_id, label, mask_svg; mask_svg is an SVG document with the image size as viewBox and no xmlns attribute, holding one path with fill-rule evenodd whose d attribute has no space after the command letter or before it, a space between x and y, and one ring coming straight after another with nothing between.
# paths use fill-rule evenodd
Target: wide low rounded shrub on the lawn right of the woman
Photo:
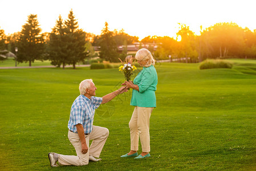
<instances>
[{"instance_id":1,"label":"wide low rounded shrub on the lawn right of the woman","mask_svg":"<svg viewBox=\"0 0 256 171\"><path fill-rule=\"evenodd\" d=\"M207 59L199 66L200 70L213 69L213 68L232 68L233 64L228 60L221 59Z\"/></svg>"}]
</instances>

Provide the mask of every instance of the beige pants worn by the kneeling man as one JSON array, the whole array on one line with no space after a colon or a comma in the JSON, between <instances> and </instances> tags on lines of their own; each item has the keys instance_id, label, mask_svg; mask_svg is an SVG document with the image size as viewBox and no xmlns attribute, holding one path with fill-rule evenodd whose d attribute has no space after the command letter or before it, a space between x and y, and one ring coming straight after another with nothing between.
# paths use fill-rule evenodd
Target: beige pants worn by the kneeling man
<instances>
[{"instance_id":1,"label":"beige pants worn by the kneeling man","mask_svg":"<svg viewBox=\"0 0 256 171\"><path fill-rule=\"evenodd\" d=\"M89 155L94 157L100 157L101 150L108 138L108 129L103 127L92 126L92 132L90 135L86 135L86 144L89 146L89 140L93 140L88 152L82 153L82 145L79 139L78 133L68 131L68 139L70 143L75 147L77 156L59 155L59 165L75 165L82 166L89 163Z\"/></svg>"}]
</instances>

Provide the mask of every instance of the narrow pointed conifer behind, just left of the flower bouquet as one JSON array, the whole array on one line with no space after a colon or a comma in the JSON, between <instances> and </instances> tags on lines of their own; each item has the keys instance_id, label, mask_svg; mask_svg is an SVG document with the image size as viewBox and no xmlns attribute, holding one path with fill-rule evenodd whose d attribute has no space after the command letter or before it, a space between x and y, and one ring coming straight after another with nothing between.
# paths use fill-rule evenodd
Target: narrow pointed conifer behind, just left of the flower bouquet
<instances>
[{"instance_id":1,"label":"narrow pointed conifer behind, just left of the flower bouquet","mask_svg":"<svg viewBox=\"0 0 256 171\"><path fill-rule=\"evenodd\" d=\"M100 58L108 60L109 62L118 62L118 53L115 39L113 39L113 32L108 30L108 23L105 22L100 38Z\"/></svg>"}]
</instances>

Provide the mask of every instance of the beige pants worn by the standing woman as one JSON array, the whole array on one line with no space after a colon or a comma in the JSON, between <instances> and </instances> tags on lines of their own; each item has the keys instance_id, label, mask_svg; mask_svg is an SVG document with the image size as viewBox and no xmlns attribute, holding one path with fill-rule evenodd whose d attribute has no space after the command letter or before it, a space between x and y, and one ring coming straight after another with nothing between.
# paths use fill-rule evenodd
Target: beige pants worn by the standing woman
<instances>
[{"instance_id":1,"label":"beige pants worn by the standing woman","mask_svg":"<svg viewBox=\"0 0 256 171\"><path fill-rule=\"evenodd\" d=\"M150 152L149 118L153 108L135 107L129 122L131 150L139 149L139 136L143 152Z\"/></svg>"}]
</instances>

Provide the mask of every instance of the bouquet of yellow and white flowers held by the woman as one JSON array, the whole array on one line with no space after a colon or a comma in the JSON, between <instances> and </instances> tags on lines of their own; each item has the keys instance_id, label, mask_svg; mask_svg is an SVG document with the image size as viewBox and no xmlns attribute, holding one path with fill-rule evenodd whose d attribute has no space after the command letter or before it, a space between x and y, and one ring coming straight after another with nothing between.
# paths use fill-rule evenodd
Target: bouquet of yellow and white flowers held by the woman
<instances>
[{"instance_id":1,"label":"bouquet of yellow and white flowers held by the woman","mask_svg":"<svg viewBox=\"0 0 256 171\"><path fill-rule=\"evenodd\" d=\"M125 58L125 63L119 58L119 60L121 61L121 63L123 65L121 65L119 67L119 71L121 71L124 74L124 78L125 80L127 80L127 82L129 82L129 80L131 80L131 76L132 76L132 71L137 70L137 67L133 66L133 60L132 60L132 56L127 56Z\"/></svg>"}]
</instances>

